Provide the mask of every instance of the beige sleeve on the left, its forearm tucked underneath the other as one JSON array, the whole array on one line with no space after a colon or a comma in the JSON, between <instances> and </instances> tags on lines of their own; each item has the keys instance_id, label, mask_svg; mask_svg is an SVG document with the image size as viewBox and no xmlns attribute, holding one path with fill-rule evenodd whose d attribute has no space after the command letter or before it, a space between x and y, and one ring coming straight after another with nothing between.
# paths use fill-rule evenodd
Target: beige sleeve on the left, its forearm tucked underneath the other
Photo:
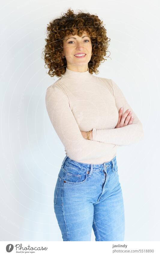
<instances>
[{"instance_id":1,"label":"beige sleeve on the left, its forearm tucked underneath the other","mask_svg":"<svg viewBox=\"0 0 160 256\"><path fill-rule=\"evenodd\" d=\"M83 138L71 111L68 95L62 87L62 83L58 82L47 88L45 100L50 121L71 159L83 162L91 159L94 163L101 159L102 154L107 156L115 145L108 144L106 147L105 143Z\"/></svg>"}]
</instances>

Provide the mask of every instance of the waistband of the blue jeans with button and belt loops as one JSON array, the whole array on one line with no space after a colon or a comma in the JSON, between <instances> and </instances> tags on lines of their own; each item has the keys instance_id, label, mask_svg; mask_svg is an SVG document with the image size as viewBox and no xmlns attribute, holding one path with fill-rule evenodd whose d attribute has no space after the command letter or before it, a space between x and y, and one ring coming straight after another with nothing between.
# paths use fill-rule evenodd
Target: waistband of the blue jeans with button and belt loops
<instances>
[{"instance_id":1,"label":"waistband of the blue jeans with button and belt loops","mask_svg":"<svg viewBox=\"0 0 160 256\"><path fill-rule=\"evenodd\" d=\"M116 163L116 156L114 156L113 159L108 162L104 162L101 164L89 164L89 163L77 162L66 155L62 162L62 167L64 167L65 169L65 166L66 167L70 166L72 168L80 169L84 171L92 168L93 171L98 171L98 170L100 171L102 169L105 169L105 167L107 166L112 166L112 168L114 168L115 163Z\"/></svg>"}]
</instances>

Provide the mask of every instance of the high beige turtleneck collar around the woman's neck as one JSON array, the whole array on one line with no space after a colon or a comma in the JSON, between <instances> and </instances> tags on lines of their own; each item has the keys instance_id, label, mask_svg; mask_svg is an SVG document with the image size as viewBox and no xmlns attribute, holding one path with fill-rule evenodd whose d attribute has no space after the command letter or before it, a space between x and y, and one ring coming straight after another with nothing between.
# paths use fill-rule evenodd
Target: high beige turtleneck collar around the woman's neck
<instances>
[{"instance_id":1,"label":"high beige turtleneck collar around the woman's neck","mask_svg":"<svg viewBox=\"0 0 160 256\"><path fill-rule=\"evenodd\" d=\"M87 79L91 76L92 74L89 73L89 68L85 72L77 72L77 71L72 71L66 67L65 74L63 74L63 77L69 78L69 79Z\"/></svg>"}]
</instances>

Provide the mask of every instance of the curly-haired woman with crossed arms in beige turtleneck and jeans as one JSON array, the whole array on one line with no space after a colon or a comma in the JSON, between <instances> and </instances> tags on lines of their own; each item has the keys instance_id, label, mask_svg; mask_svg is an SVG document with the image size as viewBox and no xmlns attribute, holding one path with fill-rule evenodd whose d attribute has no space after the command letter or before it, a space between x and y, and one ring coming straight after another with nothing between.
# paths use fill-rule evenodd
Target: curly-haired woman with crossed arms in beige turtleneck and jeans
<instances>
[{"instance_id":1,"label":"curly-haired woman with crossed arms in beige turtleneck and jeans","mask_svg":"<svg viewBox=\"0 0 160 256\"><path fill-rule=\"evenodd\" d=\"M62 239L90 241L93 227L95 241L124 241L116 149L139 141L142 124L116 83L93 75L109 42L98 16L68 9L47 31L45 62L59 79L46 107L67 154L54 190Z\"/></svg>"}]
</instances>

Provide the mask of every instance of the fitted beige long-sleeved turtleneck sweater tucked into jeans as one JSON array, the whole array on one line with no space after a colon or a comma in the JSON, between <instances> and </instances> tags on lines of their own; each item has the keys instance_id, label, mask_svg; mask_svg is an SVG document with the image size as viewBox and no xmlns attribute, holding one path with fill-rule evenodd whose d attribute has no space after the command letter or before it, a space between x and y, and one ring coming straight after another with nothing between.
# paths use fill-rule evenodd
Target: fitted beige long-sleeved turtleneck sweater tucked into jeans
<instances>
[{"instance_id":1,"label":"fitted beige long-sleeved turtleneck sweater tucked into jeans","mask_svg":"<svg viewBox=\"0 0 160 256\"><path fill-rule=\"evenodd\" d=\"M119 109L131 109L122 91L111 79L66 68L65 74L46 91L50 121L71 159L90 164L108 162L119 146L143 138L142 123L134 113L133 123L115 128ZM93 129L93 140L80 131Z\"/></svg>"}]
</instances>

